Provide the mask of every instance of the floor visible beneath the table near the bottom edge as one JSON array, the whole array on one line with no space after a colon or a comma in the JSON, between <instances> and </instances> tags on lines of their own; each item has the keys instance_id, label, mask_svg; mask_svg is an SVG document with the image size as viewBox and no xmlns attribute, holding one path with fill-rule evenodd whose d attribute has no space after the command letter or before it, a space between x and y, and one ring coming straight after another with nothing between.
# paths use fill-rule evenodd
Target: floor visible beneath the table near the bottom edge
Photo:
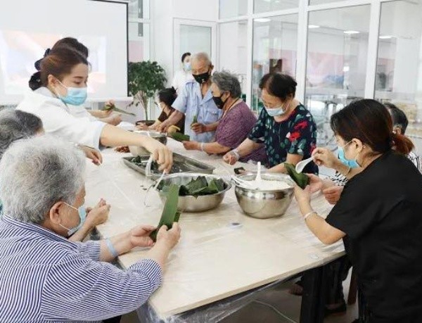
<instances>
[{"instance_id":1,"label":"floor visible beneath the table near the bottom edge","mask_svg":"<svg viewBox=\"0 0 422 323\"><path fill-rule=\"evenodd\" d=\"M344 293L349 292L350 277L344 282ZM262 295L245 306L245 308L226 317L222 323L294 323L299 322L300 300L298 296L288 293L290 284L278 286ZM324 320L324 323L351 323L357 318L357 305L347 307L345 315L331 316ZM125 315L122 323L143 323L139 322L134 313ZM206 322L204 322L206 323Z\"/></svg>"}]
</instances>

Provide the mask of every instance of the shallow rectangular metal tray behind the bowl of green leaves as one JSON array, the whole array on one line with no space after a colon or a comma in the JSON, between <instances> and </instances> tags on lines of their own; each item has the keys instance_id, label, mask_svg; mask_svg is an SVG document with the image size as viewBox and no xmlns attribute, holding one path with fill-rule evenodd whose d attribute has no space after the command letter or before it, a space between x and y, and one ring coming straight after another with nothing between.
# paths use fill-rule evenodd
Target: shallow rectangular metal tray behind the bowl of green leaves
<instances>
[{"instance_id":1,"label":"shallow rectangular metal tray behind the bowl of green leaves","mask_svg":"<svg viewBox=\"0 0 422 323\"><path fill-rule=\"evenodd\" d=\"M149 155L142 155L139 156L141 158L141 165L136 165L131 162L132 159L136 157L123 157L123 162L132 170L136 170L136 172L140 172L142 175L145 175L145 167L146 163L148 162ZM212 174L214 172L215 167L211 165L207 165L205 163L201 163L199 160L188 158L186 156L179 155L179 153L173 153L173 162L174 167L177 167L178 172L187 172L187 173L200 173L200 174ZM170 174L177 173L172 170ZM158 179L160 177L161 172L154 172L152 178Z\"/></svg>"}]
</instances>

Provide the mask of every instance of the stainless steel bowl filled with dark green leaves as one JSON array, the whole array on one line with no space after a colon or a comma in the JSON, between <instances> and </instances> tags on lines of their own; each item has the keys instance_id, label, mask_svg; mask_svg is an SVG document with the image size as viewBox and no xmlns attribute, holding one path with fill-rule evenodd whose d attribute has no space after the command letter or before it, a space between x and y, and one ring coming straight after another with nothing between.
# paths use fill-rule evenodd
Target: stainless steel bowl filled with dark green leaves
<instances>
[{"instance_id":1,"label":"stainless steel bowl filled with dark green leaves","mask_svg":"<svg viewBox=\"0 0 422 323\"><path fill-rule=\"evenodd\" d=\"M207 175L207 174L198 174L198 173L179 173L168 175L162 179L164 184L177 184L177 185L184 185L191 182L192 179L196 179L198 176L205 176L207 180L209 179L219 179L222 177L215 176L215 175ZM217 206L222 203L224 195L226 191L231 189L231 183L223 179L226 188L224 191L221 191L216 194L204 195L204 196L179 196L179 203L177 207L182 210L183 212L203 212L207 210L212 210L213 208L217 208ZM162 203L165 203L165 194L161 191L158 191L160 194L160 198Z\"/></svg>"}]
</instances>

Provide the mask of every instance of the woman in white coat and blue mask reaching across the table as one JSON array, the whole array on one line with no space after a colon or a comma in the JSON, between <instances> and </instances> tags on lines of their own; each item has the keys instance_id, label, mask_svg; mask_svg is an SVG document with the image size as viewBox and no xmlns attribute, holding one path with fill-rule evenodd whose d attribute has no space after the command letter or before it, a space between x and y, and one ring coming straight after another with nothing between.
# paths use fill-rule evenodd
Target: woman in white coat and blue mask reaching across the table
<instances>
[{"instance_id":1,"label":"woman in white coat and blue mask reaching across the table","mask_svg":"<svg viewBox=\"0 0 422 323\"><path fill-rule=\"evenodd\" d=\"M155 139L70 113L68 104L80 106L87 99L88 74L87 58L68 46L58 46L41 60L39 77L30 80L34 91L17 108L41 118L46 133L93 148L143 146L153 153L160 170L170 170L172 153Z\"/></svg>"}]
</instances>

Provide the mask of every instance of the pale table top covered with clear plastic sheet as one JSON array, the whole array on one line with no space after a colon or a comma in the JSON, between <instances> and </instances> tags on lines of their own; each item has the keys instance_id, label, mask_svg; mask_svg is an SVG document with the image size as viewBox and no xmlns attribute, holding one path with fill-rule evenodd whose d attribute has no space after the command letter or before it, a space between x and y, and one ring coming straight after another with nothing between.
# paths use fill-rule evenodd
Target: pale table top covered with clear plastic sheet
<instances>
[{"instance_id":1,"label":"pale table top covered with clear plastic sheet","mask_svg":"<svg viewBox=\"0 0 422 323\"><path fill-rule=\"evenodd\" d=\"M174 152L215 166L215 174L226 175L226 170L233 173L232 169L240 166L229 166L221 157L200 151L185 151L177 141L169 141L167 145ZM108 222L98 226L103 237L136 224L156 225L160 220L162 203L156 192L148 195L152 206L143 205L144 188L152 184L151 180L124 165L124 156L128 154L106 150L103 165L89 165L87 170L87 205L94 205L99 198L106 198L112 205ZM254 169L253 165L243 167ZM323 196L316 196L312 205L320 215L331 210ZM170 255L162 286L149 300L161 318L291 277L344 254L343 243L324 246L314 237L301 220L295 201L283 217L254 219L243 215L233 188L219 208L184 213L179 223L181 240ZM145 254L141 249L132 251L120 256L119 261L129 267Z\"/></svg>"}]
</instances>

